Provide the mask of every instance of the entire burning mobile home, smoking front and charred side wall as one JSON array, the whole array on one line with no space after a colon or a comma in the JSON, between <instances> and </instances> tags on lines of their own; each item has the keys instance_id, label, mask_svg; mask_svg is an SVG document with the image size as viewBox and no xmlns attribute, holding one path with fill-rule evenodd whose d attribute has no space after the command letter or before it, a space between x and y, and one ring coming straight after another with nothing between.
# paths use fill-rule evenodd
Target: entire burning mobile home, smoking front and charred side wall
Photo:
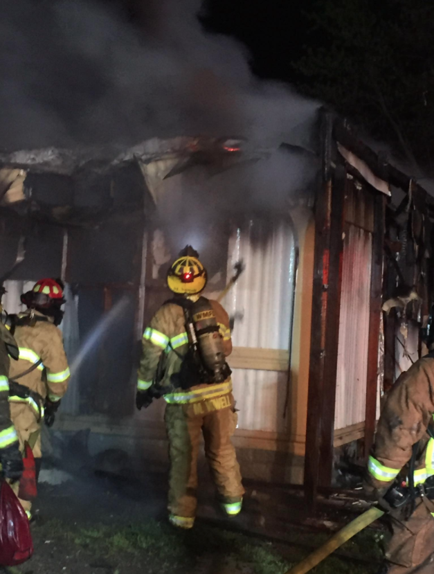
<instances>
[{"instance_id":1,"label":"entire burning mobile home, smoking front and charred side wall","mask_svg":"<svg viewBox=\"0 0 434 574\"><path fill-rule=\"evenodd\" d=\"M191 243L208 295L245 265L223 301L244 476L305 477L312 499L343 445L368 451L432 300L432 204L338 118L321 112L309 141L183 137L0 157L2 269L26 237L6 309L27 281L68 284L73 379L58 431L90 429L92 455L118 447L165 466L162 402L134 409L137 346L169 297L168 264Z\"/></svg>"}]
</instances>

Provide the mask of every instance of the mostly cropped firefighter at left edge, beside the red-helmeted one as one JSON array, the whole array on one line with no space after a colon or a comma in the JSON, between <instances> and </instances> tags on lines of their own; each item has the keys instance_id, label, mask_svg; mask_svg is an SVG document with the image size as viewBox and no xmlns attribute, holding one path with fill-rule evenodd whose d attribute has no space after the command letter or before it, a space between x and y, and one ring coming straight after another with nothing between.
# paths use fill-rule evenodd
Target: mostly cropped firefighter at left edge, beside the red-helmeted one
<instances>
[{"instance_id":1,"label":"mostly cropped firefighter at left edge, beside the red-helmeted one","mask_svg":"<svg viewBox=\"0 0 434 574\"><path fill-rule=\"evenodd\" d=\"M0 322L0 464L3 476L10 481L17 481L23 472L23 459L19 451L17 431L10 420L10 357L18 359L18 346L5 325Z\"/></svg>"}]
</instances>

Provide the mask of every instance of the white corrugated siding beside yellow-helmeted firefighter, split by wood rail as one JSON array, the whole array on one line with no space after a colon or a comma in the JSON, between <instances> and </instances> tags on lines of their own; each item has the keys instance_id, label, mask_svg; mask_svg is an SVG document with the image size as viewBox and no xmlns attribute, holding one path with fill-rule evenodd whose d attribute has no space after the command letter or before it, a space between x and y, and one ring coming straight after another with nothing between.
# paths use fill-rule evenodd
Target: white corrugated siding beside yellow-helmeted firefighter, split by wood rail
<instances>
[{"instance_id":1,"label":"white corrugated siding beside yellow-helmeted firefighter, split by wood rail","mask_svg":"<svg viewBox=\"0 0 434 574\"><path fill-rule=\"evenodd\" d=\"M288 350L291 338L295 249L291 226L269 228L252 220L230 240L228 273L244 260L246 270L223 301L235 316L235 347ZM283 431L287 371L234 369L239 428Z\"/></svg>"}]
</instances>

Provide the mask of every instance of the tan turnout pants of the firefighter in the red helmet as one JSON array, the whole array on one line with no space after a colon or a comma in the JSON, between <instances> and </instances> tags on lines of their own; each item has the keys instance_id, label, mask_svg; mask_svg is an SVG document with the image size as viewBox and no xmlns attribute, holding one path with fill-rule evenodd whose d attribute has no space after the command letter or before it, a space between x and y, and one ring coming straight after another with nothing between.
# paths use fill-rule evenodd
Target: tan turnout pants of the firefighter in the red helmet
<instances>
[{"instance_id":1,"label":"tan turnout pants of the firefighter in the red helmet","mask_svg":"<svg viewBox=\"0 0 434 574\"><path fill-rule=\"evenodd\" d=\"M32 448L33 456L35 459L41 458L41 427L40 423L35 419L35 415L30 406L27 404L10 403L10 418L17 431L21 454L24 454L24 442L35 442ZM30 440L30 437L32 437L32 440ZM36 440L35 437L37 437ZM15 494L18 495L19 482L13 483L11 487ZM21 499L18 500L30 519L32 503Z\"/></svg>"}]
</instances>

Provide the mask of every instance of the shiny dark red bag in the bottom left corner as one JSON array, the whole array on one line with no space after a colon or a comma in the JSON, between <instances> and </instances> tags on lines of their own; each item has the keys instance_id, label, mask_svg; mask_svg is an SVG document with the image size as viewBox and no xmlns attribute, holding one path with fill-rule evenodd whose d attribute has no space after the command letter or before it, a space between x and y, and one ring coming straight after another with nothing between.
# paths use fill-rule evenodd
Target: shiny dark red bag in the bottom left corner
<instances>
[{"instance_id":1,"label":"shiny dark red bag in the bottom left corner","mask_svg":"<svg viewBox=\"0 0 434 574\"><path fill-rule=\"evenodd\" d=\"M30 524L6 481L0 485L0 566L17 566L33 554Z\"/></svg>"}]
</instances>

